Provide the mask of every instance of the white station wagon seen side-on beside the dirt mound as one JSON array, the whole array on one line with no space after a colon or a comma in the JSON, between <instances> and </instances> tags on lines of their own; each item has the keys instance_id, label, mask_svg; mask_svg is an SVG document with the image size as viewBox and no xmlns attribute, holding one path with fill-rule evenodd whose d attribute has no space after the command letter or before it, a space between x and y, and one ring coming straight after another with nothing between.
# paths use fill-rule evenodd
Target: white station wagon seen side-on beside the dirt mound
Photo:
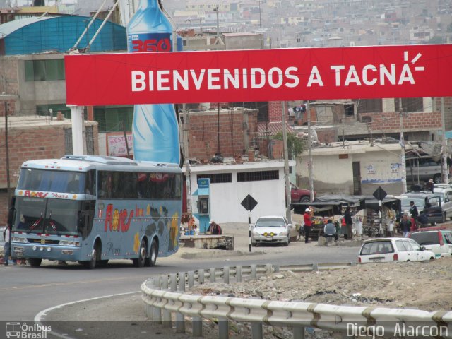
<instances>
[{"instance_id":1,"label":"white station wagon seen side-on beside the dirt mound","mask_svg":"<svg viewBox=\"0 0 452 339\"><path fill-rule=\"evenodd\" d=\"M366 240L359 250L359 263L432 260L435 254L410 238L376 238Z\"/></svg>"}]
</instances>

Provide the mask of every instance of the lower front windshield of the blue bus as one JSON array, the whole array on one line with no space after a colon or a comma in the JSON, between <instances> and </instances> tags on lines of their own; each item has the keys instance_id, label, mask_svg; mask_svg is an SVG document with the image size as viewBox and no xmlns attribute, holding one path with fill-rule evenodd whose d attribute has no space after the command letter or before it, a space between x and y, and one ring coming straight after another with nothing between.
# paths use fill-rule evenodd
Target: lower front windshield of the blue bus
<instances>
[{"instance_id":1,"label":"lower front windshield of the blue bus","mask_svg":"<svg viewBox=\"0 0 452 339\"><path fill-rule=\"evenodd\" d=\"M18 196L13 231L78 234L78 211L83 201Z\"/></svg>"}]
</instances>

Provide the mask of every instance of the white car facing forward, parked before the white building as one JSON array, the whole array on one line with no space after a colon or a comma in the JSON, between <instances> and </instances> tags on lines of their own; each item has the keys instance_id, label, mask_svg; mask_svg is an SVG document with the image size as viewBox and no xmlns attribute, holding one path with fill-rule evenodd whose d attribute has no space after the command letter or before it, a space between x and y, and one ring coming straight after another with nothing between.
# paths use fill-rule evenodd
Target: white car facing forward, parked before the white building
<instances>
[{"instance_id":1,"label":"white car facing forward, parked before the white building","mask_svg":"<svg viewBox=\"0 0 452 339\"><path fill-rule=\"evenodd\" d=\"M256 224L251 227L251 244L275 244L288 246L290 243L290 230L292 224L287 219L278 215L269 215L258 218Z\"/></svg>"}]
</instances>

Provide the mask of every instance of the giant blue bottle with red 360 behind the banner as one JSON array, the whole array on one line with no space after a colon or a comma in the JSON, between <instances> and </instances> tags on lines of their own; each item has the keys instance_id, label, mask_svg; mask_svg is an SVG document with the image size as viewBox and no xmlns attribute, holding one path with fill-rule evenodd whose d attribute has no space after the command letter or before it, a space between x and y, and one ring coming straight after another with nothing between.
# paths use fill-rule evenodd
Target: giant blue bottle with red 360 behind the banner
<instances>
[{"instance_id":1,"label":"giant blue bottle with red 360 behind the banner","mask_svg":"<svg viewBox=\"0 0 452 339\"><path fill-rule=\"evenodd\" d=\"M160 0L140 0L126 32L130 53L172 51L172 25ZM135 105L132 136L135 160L179 164L179 124L173 104Z\"/></svg>"}]
</instances>

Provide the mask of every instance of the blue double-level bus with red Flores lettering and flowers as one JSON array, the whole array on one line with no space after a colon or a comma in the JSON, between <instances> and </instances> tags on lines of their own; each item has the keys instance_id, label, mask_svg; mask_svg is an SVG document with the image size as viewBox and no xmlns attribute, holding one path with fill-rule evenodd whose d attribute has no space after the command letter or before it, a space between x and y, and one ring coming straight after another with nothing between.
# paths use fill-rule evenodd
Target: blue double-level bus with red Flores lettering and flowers
<instances>
[{"instance_id":1,"label":"blue double-level bus with red Flores lettering and flowers","mask_svg":"<svg viewBox=\"0 0 452 339\"><path fill-rule=\"evenodd\" d=\"M182 171L174 164L66 155L30 160L15 192L11 254L88 268L110 259L154 266L179 248Z\"/></svg>"}]
</instances>

